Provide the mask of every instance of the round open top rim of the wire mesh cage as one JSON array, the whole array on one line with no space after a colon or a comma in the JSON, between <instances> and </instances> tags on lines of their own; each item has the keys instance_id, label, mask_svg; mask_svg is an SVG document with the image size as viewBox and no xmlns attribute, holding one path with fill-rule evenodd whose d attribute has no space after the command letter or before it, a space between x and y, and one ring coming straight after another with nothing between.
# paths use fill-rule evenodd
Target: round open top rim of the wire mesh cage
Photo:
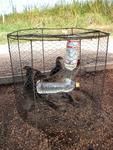
<instances>
[{"instance_id":1,"label":"round open top rim of the wire mesh cage","mask_svg":"<svg viewBox=\"0 0 113 150\"><path fill-rule=\"evenodd\" d=\"M34 33L30 33L30 34L21 34L22 32L27 32L27 31L38 31L41 30L41 34L34 34ZM44 34L44 30L72 30L71 34ZM80 33L73 33L73 30L83 30L84 32L80 32ZM28 28L28 29L21 29L21 30L17 30L14 32L11 32L9 34L7 34L7 38L11 38L13 40L42 40L44 38L48 38L49 40L53 39L92 39L92 38L101 38L101 37L107 37L109 36L110 33L107 32L103 32L100 30L95 30L95 29L86 29L86 28L76 28L76 27L72 27L72 28ZM41 39L40 39L41 38Z\"/></svg>"}]
</instances>

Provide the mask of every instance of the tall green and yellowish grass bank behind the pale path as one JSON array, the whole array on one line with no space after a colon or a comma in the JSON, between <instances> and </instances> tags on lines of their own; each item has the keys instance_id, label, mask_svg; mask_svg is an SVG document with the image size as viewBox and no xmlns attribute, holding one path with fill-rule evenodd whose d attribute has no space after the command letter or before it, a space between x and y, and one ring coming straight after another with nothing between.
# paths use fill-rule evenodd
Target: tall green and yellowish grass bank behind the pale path
<instances>
[{"instance_id":1,"label":"tall green and yellowish grass bank behind the pale path","mask_svg":"<svg viewBox=\"0 0 113 150\"><path fill-rule=\"evenodd\" d=\"M16 10L16 9L15 9ZM37 6L23 13L0 17L0 43L6 43L6 34L15 30L35 27L84 27L100 28L113 32L113 1L95 0L72 4L60 3L53 8L39 10ZM107 30L109 29L109 30Z\"/></svg>"}]
</instances>

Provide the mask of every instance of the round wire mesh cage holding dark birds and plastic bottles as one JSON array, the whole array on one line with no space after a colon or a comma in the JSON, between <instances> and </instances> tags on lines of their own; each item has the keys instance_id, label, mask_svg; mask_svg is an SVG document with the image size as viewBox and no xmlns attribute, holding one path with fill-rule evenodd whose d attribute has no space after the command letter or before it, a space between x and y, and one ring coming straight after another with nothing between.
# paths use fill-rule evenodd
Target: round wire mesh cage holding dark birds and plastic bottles
<instances>
[{"instance_id":1,"label":"round wire mesh cage holding dark birds and plastic bottles","mask_svg":"<svg viewBox=\"0 0 113 150\"><path fill-rule=\"evenodd\" d=\"M86 113L88 119L101 109L108 33L79 28L37 28L19 30L8 34L7 37L15 103L23 119L41 128L54 126L57 129L58 124L63 127L64 120L65 126L72 127L71 118L78 117L77 111L80 118L81 113ZM50 76L58 57L65 59L69 40L79 41L80 64L77 73L75 70L68 72L64 69L63 76L73 75L75 88L67 92L38 93L36 82L43 82L43 79ZM37 71L41 76L36 76ZM25 88L26 83L30 88Z\"/></svg>"}]
</instances>

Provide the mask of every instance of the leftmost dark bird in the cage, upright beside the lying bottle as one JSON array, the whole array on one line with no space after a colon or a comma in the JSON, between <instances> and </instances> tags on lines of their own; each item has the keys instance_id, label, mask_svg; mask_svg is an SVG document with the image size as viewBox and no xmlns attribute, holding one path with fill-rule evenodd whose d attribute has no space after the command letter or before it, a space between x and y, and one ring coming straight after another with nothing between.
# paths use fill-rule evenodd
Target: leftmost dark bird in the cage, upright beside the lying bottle
<instances>
[{"instance_id":1,"label":"leftmost dark bird in the cage, upright beside the lying bottle","mask_svg":"<svg viewBox=\"0 0 113 150\"><path fill-rule=\"evenodd\" d=\"M28 117L28 111L31 110L34 104L34 93L33 93L33 74L35 69L30 66L25 66L23 69L26 70L24 86L21 90L21 95L17 101L17 110L24 121Z\"/></svg>"}]
</instances>

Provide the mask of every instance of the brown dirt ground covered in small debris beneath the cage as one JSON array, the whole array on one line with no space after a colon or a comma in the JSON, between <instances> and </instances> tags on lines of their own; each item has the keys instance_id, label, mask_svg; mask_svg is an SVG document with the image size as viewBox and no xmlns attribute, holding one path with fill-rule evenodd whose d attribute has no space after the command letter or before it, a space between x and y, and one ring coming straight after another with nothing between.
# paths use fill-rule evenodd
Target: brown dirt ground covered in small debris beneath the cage
<instances>
[{"instance_id":1,"label":"brown dirt ground covered in small debris beneath the cage","mask_svg":"<svg viewBox=\"0 0 113 150\"><path fill-rule=\"evenodd\" d=\"M106 72L103 96L102 76L84 74L81 90L71 93L74 103L49 95L49 105L40 98L27 113L22 93L15 99L13 85L0 86L0 149L112 150L113 70Z\"/></svg>"}]
</instances>

